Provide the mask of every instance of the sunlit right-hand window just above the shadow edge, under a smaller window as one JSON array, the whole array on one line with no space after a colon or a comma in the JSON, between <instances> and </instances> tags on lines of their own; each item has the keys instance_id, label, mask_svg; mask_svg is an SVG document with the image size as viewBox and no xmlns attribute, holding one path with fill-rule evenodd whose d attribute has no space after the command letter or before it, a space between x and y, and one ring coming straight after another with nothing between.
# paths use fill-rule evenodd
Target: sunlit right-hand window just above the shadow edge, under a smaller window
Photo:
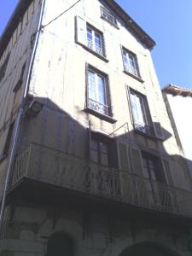
<instances>
[{"instance_id":1,"label":"sunlit right-hand window just above the shadow edge, under a smaller window","mask_svg":"<svg viewBox=\"0 0 192 256\"><path fill-rule=\"evenodd\" d=\"M128 97L131 103L132 121L135 129L149 136L154 136L154 128L146 96L128 88Z\"/></svg>"}]
</instances>

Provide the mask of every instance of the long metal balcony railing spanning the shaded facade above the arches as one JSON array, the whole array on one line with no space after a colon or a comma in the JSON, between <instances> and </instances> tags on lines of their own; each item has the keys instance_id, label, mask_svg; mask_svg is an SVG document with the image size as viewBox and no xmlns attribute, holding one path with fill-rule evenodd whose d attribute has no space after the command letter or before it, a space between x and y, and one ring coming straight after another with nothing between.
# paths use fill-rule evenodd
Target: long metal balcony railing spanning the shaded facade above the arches
<instances>
[{"instance_id":1,"label":"long metal balcony railing spanning the shaded facade above the arches","mask_svg":"<svg viewBox=\"0 0 192 256\"><path fill-rule=\"evenodd\" d=\"M192 217L192 193L32 143L15 161L12 185L22 177L108 200Z\"/></svg>"}]
</instances>

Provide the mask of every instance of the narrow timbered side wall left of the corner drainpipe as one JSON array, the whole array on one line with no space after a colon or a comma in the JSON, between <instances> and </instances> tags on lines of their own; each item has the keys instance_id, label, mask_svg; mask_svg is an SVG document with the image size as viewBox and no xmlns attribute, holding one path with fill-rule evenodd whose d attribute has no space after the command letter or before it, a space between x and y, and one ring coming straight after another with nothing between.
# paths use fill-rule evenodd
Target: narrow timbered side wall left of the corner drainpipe
<instances>
[{"instance_id":1,"label":"narrow timbered side wall left of the corner drainpipe","mask_svg":"<svg viewBox=\"0 0 192 256\"><path fill-rule=\"evenodd\" d=\"M0 57L0 187L3 189L4 170L14 121L24 93L26 74L32 52L32 34L37 30L39 0L26 9ZM16 22L16 21L15 21Z\"/></svg>"}]
</instances>

